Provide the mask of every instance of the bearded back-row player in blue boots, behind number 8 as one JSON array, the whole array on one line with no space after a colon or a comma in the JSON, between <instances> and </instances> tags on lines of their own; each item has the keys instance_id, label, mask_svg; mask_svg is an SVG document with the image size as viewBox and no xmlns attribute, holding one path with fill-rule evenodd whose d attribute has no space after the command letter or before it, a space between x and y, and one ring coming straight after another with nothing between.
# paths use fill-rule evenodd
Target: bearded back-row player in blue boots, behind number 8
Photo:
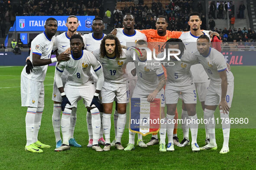
<instances>
[{"instance_id":1,"label":"bearded back-row player in blue boots, behind number 8","mask_svg":"<svg viewBox=\"0 0 256 170\"><path fill-rule=\"evenodd\" d=\"M58 50L58 53L63 53L67 48L70 47L70 38L72 35L77 34L77 28L79 26L78 18L76 16L69 16L67 19L66 26L68 27L68 31L63 32L60 35L56 36L56 41L53 44L53 51ZM57 66L57 64L56 64ZM68 71L64 70L62 74L62 82L63 86L65 86L66 79L68 77ZM60 114L61 114L61 102L62 96L54 82L53 91L52 91L52 100L53 100L53 113L52 113L52 126L55 133L55 141L56 148L62 145L62 139L60 135ZM72 109L72 113L70 116L70 128L69 128L69 145L75 147L81 147L74 138L74 129L76 123L76 107Z\"/></svg>"}]
</instances>

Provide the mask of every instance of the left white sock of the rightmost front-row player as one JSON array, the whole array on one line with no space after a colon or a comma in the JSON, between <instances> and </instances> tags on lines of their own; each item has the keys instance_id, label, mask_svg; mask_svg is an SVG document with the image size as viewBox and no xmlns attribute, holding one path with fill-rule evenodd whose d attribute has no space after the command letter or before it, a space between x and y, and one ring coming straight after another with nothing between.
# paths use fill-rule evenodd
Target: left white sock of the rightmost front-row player
<instances>
[{"instance_id":1,"label":"left white sock of the rightmost front-row player","mask_svg":"<svg viewBox=\"0 0 256 170\"><path fill-rule=\"evenodd\" d=\"M204 120L207 120L206 129L209 134L210 143L216 144L214 110L204 109Z\"/></svg>"}]
</instances>

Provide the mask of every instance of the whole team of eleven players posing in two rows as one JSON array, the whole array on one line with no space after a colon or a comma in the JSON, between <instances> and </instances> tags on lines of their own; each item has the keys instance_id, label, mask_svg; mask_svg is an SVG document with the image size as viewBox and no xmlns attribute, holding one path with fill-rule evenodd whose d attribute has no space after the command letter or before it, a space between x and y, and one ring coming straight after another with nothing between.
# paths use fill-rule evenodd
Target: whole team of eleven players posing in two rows
<instances>
[{"instance_id":1,"label":"whole team of eleven players posing in two rows","mask_svg":"<svg viewBox=\"0 0 256 170\"><path fill-rule=\"evenodd\" d=\"M190 144L192 151L216 150L214 111L218 106L220 118L229 120L234 78L224 56L219 52L220 44L211 44L221 42L219 35L217 32L201 30L201 23L200 14L193 12L189 15L188 32L166 30L168 23L165 16L157 17L156 29L136 30L134 16L127 13L123 17L123 28L115 28L109 35L103 33L104 24L99 17L93 20L92 33L80 35L77 32L77 17L69 16L66 22L68 30L55 36L58 22L48 18L45 31L31 43L30 56L21 73L21 103L22 107L27 107L25 151L42 153L42 149L51 148L38 140L38 132L44 110L43 82L48 65L55 62L52 92L55 151L69 150L71 146L81 147L74 138L77 102L81 99L87 108L87 147L96 151L110 151L112 146L118 150L133 150L135 133L130 129L127 147L121 145L129 98L144 98L148 102L159 98L161 101L160 141L158 133L153 133L145 144L138 133L137 146L146 148L159 144L160 152L174 151L174 145L185 147ZM126 46L129 42L134 45ZM163 58L161 62L171 61L173 66L153 64L157 62L153 57L147 60L145 48L154 48L151 42L164 43L163 48L166 50L156 51L157 58ZM135 54L135 50L139 53ZM56 57L51 58L52 52ZM170 56L168 61L165 57L167 52L177 55ZM204 119L209 120L205 124L203 147L197 144L197 96L204 111ZM226 96L229 96L228 100ZM177 122L172 121L178 119L178 98L182 99L181 119L190 120L189 123L181 123L181 142L177 137ZM113 101L116 103L113 116L115 137L111 142ZM222 121L222 128L224 142L220 154L226 154L229 152L230 122ZM100 145L104 145L104 148Z\"/></svg>"}]
</instances>

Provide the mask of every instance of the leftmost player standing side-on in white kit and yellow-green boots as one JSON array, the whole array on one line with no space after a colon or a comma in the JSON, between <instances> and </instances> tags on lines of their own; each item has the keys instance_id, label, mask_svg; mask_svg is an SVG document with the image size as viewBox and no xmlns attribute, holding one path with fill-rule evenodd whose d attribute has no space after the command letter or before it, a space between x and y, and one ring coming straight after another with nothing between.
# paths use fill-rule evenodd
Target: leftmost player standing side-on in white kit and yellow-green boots
<instances>
[{"instance_id":1,"label":"leftmost player standing side-on in white kit and yellow-green boots","mask_svg":"<svg viewBox=\"0 0 256 170\"><path fill-rule=\"evenodd\" d=\"M37 139L44 110L44 85L48 64L62 60L69 60L67 54L60 54L50 59L58 22L54 18L45 21L45 31L36 36L31 43L30 60L33 68L30 74L26 73L25 66L21 72L21 106L28 107L26 113L25 151L43 152L40 148L50 148Z\"/></svg>"}]
</instances>

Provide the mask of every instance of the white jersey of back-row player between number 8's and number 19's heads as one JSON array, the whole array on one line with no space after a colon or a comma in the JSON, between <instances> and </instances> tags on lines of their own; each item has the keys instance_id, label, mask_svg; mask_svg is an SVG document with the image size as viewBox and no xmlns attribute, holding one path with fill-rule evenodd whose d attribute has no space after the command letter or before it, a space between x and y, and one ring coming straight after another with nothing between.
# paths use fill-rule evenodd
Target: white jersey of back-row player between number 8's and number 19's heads
<instances>
[{"instance_id":1,"label":"white jersey of back-row player between number 8's and number 19's heads","mask_svg":"<svg viewBox=\"0 0 256 170\"><path fill-rule=\"evenodd\" d=\"M93 33L84 34L83 37L86 41L86 50L94 51L100 48L101 40L106 36L105 34L102 35L100 39L94 38Z\"/></svg>"}]
</instances>

